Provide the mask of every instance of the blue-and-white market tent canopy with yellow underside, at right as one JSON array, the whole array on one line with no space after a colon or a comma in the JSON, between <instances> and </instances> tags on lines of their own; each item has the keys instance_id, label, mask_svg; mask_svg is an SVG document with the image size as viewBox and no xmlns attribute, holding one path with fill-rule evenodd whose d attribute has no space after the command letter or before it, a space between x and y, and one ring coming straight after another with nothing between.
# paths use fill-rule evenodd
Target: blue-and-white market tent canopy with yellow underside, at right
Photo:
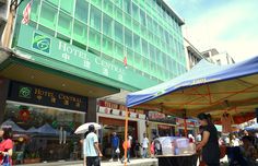
<instances>
[{"instance_id":1,"label":"blue-and-white market tent canopy with yellow underside, at right","mask_svg":"<svg viewBox=\"0 0 258 166\"><path fill-rule=\"evenodd\" d=\"M201 60L189 72L156 86L131 93L127 107L186 110L188 115L218 109L258 107L258 57L216 66ZM253 106L251 108L249 106Z\"/></svg>"}]
</instances>

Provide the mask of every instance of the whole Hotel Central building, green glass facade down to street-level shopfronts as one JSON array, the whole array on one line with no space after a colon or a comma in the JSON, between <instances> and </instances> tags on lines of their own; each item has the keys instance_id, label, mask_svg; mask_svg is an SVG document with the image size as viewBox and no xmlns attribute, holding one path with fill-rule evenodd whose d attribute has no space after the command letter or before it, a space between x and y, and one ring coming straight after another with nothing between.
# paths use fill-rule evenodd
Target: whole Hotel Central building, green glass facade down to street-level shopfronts
<instances>
[{"instance_id":1,"label":"whole Hotel Central building, green glass facade down to street-level shopfronts","mask_svg":"<svg viewBox=\"0 0 258 166\"><path fill-rule=\"evenodd\" d=\"M26 25L21 22L30 2ZM40 161L80 158L82 138L73 132L85 121L102 122L99 139L109 149L124 107L110 111L97 98L186 72L183 24L163 0L21 1L11 50L0 49L0 123L11 124L16 144L26 143L24 153ZM144 111L130 115L140 140Z\"/></svg>"}]
</instances>

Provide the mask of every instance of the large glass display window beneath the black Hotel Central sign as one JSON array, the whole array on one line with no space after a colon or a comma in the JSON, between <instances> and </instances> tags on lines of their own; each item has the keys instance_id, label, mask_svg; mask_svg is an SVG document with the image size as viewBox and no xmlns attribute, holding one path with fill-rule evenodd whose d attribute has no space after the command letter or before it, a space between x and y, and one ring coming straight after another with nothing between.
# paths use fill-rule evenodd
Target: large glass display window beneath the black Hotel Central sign
<instances>
[{"instance_id":1,"label":"large glass display window beneath the black Hotel Central sign","mask_svg":"<svg viewBox=\"0 0 258 166\"><path fill-rule=\"evenodd\" d=\"M13 130L15 164L81 159L81 135L74 130L85 112L7 102L2 126Z\"/></svg>"}]
</instances>

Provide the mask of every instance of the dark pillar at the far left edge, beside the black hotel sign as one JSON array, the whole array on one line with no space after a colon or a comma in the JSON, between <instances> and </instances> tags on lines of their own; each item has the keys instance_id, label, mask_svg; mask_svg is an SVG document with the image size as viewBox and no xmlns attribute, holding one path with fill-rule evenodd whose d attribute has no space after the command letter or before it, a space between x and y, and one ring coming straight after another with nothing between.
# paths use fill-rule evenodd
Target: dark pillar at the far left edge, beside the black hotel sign
<instances>
[{"instance_id":1,"label":"dark pillar at the far left edge, beside the black hotel sign","mask_svg":"<svg viewBox=\"0 0 258 166\"><path fill-rule=\"evenodd\" d=\"M0 78L0 124L3 122L4 108L7 105L8 91L9 91L8 79Z\"/></svg>"}]
</instances>

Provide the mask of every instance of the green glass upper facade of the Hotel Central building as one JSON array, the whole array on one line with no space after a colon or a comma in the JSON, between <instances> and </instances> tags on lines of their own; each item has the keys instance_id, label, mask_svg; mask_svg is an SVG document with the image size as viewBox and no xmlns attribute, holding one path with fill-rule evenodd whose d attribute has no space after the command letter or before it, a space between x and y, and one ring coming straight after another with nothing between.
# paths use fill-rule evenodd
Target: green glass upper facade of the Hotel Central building
<instances>
[{"instance_id":1,"label":"green glass upper facade of the Hotel Central building","mask_svg":"<svg viewBox=\"0 0 258 166\"><path fill-rule=\"evenodd\" d=\"M17 11L13 39L17 50L31 54L30 43L27 47L23 45L26 33L43 33L54 40L63 42L59 47L71 46L92 58L98 57L105 61L105 67L114 66L112 68L117 67L121 72L112 76L110 68L84 68L89 66L87 61L69 63L74 54L62 55L56 60L93 71L102 83L129 91L155 85L186 71L180 28L184 22L162 0L34 0L31 21L23 25L23 10L28 2L24 0ZM31 37L35 39L35 34ZM124 67L125 57L127 68ZM34 59L44 61L37 58ZM80 76L96 81L94 76ZM139 82L133 83L134 79Z\"/></svg>"}]
</instances>

